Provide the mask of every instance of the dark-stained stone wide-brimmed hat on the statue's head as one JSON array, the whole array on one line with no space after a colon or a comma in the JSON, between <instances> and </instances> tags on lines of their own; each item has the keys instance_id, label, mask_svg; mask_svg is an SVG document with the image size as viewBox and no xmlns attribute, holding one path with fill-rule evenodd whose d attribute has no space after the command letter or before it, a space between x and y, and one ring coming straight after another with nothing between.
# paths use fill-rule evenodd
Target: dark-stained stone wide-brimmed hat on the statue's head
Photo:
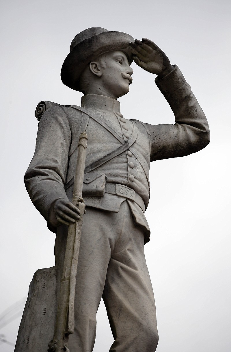
<instances>
[{"instance_id":1,"label":"dark-stained stone wide-brimmed hat on the statue's head","mask_svg":"<svg viewBox=\"0 0 231 352\"><path fill-rule=\"evenodd\" d=\"M133 61L129 44L134 38L122 32L110 32L100 27L85 29L72 40L70 53L65 58L61 69L62 82L74 90L79 90L79 78L92 60L104 52L122 50Z\"/></svg>"}]
</instances>

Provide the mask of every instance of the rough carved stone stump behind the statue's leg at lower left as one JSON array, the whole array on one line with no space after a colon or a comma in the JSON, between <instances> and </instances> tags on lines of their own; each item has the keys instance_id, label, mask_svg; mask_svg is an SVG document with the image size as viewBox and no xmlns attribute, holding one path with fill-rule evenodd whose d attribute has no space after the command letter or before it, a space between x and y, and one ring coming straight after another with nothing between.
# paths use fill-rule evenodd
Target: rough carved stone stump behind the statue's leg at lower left
<instances>
[{"instance_id":1,"label":"rough carved stone stump behind the statue's leg at lower left","mask_svg":"<svg viewBox=\"0 0 231 352\"><path fill-rule=\"evenodd\" d=\"M14 352L46 352L54 333L56 267L39 269L30 283Z\"/></svg>"}]
</instances>

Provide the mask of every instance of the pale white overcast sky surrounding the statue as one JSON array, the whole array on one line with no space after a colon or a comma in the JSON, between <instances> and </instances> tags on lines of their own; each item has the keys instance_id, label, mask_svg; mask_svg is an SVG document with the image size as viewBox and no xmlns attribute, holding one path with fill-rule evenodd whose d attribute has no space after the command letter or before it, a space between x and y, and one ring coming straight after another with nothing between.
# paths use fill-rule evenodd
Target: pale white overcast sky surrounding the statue
<instances>
[{"instance_id":1,"label":"pale white overcast sky surrounding the statue","mask_svg":"<svg viewBox=\"0 0 231 352\"><path fill-rule=\"evenodd\" d=\"M23 182L34 153L34 110L40 100L80 104L82 94L62 84L60 69L73 37L100 26L159 45L191 84L211 129L204 150L155 162L150 170L146 259L157 352L231 351L230 10L229 0L1 1L0 319L27 296L34 272L54 264L54 234ZM174 123L154 76L132 67L133 84L120 99L124 117ZM5 325L7 317L0 320L0 335L14 344L20 317ZM107 352L112 342L101 305L94 352ZM0 342L0 352L13 349Z\"/></svg>"}]
</instances>

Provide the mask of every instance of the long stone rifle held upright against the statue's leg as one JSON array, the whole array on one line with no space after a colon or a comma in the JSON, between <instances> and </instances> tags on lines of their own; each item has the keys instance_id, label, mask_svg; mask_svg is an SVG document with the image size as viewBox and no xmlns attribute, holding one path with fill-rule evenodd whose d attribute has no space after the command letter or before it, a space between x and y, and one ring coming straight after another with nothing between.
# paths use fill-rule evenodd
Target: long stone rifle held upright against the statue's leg
<instances>
[{"instance_id":1,"label":"long stone rifle held upright against the statue's leg","mask_svg":"<svg viewBox=\"0 0 231 352\"><path fill-rule=\"evenodd\" d=\"M88 135L83 132L79 137L78 157L74 178L72 204L79 208L80 218L75 224L69 225L68 238L63 265L63 274L60 281L60 294L57 300L56 322L54 336L49 342L48 352L70 352L67 347L69 335L75 327L74 300L76 272L78 265L79 244L84 215L84 201L82 198L83 178L86 159Z\"/></svg>"}]
</instances>

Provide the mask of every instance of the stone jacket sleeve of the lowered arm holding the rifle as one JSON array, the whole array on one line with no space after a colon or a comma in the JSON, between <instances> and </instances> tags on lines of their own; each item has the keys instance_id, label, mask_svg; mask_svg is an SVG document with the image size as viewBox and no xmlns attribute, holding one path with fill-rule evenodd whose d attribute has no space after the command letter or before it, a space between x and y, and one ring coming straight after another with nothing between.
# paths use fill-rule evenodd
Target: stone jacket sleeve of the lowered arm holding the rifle
<instances>
[{"instance_id":1,"label":"stone jacket sleeve of the lowered arm holding the rifle","mask_svg":"<svg viewBox=\"0 0 231 352\"><path fill-rule=\"evenodd\" d=\"M65 181L71 130L61 107L48 109L41 117L36 149L25 174L28 194L41 215L49 221L52 203L66 198Z\"/></svg>"}]
</instances>

